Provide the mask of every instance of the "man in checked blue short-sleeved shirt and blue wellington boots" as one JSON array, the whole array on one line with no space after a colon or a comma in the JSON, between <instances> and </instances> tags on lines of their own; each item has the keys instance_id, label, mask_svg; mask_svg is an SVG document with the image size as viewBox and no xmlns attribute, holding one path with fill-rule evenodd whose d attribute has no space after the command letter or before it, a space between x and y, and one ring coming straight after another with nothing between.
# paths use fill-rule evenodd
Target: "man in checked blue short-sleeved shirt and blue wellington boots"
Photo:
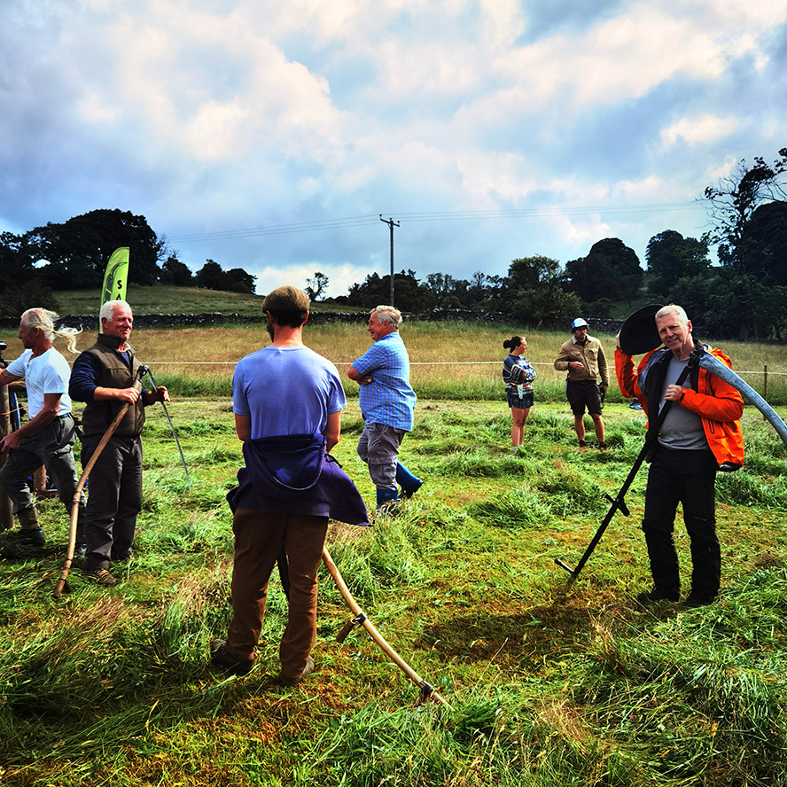
<instances>
[{"instance_id":1,"label":"man in checked blue short-sleeved shirt and blue wellington boots","mask_svg":"<svg viewBox=\"0 0 787 787\"><path fill-rule=\"evenodd\" d=\"M358 456L369 465L377 487L377 507L394 510L401 496L410 497L424 483L399 461L399 446L413 428L416 394L409 384L409 356L399 335L401 311L378 306L369 317L374 344L347 369L361 388L358 397L364 420Z\"/></svg>"}]
</instances>

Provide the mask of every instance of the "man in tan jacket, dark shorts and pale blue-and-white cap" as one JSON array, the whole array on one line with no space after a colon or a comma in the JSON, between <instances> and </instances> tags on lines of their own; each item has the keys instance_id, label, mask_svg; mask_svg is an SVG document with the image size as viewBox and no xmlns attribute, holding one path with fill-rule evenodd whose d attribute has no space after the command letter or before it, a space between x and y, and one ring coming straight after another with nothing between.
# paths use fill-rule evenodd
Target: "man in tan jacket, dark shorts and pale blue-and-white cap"
<instances>
[{"instance_id":1,"label":"man in tan jacket, dark shorts and pale blue-and-white cap","mask_svg":"<svg viewBox=\"0 0 787 787\"><path fill-rule=\"evenodd\" d=\"M565 398L574 417L574 432L581 451L588 448L585 441L585 408L593 419L598 448L607 448L604 440L604 420L601 417L601 391L610 386L604 347L595 337L588 336L588 323L577 317L571 323L573 336L557 354L555 369L567 371ZM600 381L599 381L600 378Z\"/></svg>"}]
</instances>

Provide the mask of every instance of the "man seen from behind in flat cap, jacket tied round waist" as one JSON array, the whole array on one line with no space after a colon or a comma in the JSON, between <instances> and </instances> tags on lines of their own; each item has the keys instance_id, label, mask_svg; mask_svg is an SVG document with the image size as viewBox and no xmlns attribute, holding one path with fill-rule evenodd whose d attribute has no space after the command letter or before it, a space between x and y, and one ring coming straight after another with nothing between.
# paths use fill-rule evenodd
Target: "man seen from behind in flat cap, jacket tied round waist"
<instances>
[{"instance_id":1,"label":"man seen from behind in flat cap, jacket tied round waist","mask_svg":"<svg viewBox=\"0 0 787 787\"><path fill-rule=\"evenodd\" d=\"M235 534L232 619L226 639L210 643L214 666L236 675L251 671L278 562L288 600L279 644L284 686L315 669L317 568L328 518L369 525L360 493L329 453L347 402L336 367L303 344L308 308L297 287L269 292L262 309L272 342L242 358L232 378L245 467L227 495Z\"/></svg>"}]
</instances>

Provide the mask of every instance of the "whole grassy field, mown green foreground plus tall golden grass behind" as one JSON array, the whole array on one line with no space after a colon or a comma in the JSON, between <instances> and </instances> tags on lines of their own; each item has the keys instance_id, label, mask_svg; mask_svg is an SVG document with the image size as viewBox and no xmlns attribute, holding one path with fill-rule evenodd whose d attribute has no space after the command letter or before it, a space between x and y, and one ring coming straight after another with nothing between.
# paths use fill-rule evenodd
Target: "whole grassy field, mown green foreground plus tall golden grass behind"
<instances>
[{"instance_id":1,"label":"whole grassy field, mown green foreground plus tall golden grass behind","mask_svg":"<svg viewBox=\"0 0 787 787\"><path fill-rule=\"evenodd\" d=\"M605 452L575 448L562 375L565 335L527 332L537 366L525 458L510 450L499 365L522 332L404 323L420 401L402 460L425 479L397 517L333 523L328 549L371 621L451 708L417 689L360 628L321 573L316 673L283 689L286 601L271 581L258 666L226 678L207 644L230 618L232 534L224 495L241 464L231 364L260 347L259 326L135 331L192 480L158 406L144 434L144 507L135 557L117 588L72 572L51 591L67 518L41 502L48 547L0 558L0 783L21 785L775 785L787 779L785 448L747 408L744 471L721 475L722 595L712 606L645 609L645 471L572 586L574 565L643 442L643 414L610 391ZM80 347L92 340L87 333ZM603 337L612 360L612 337ZM368 346L362 326L306 331L344 366ZM7 357L18 347L9 341ZM736 370L787 370L779 347L723 343ZM205 360L226 365L199 366ZM173 364L173 365L169 365ZM423 365L422 365L423 364ZM778 378L776 378L778 379ZM761 390L756 379L747 378ZM768 399L784 415L783 394ZM355 392L335 456L366 501L355 456ZM776 397L776 401L774 396ZM592 430L588 430L592 434ZM0 546L2 546L0 534ZM676 528L685 588L689 544Z\"/></svg>"}]
</instances>

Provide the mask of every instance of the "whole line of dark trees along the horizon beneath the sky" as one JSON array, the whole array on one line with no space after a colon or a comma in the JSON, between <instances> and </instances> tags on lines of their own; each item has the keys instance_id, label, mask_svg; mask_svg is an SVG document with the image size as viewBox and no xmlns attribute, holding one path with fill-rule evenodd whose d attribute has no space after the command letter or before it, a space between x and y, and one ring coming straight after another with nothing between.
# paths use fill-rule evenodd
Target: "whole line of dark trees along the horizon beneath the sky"
<instances>
[{"instance_id":1,"label":"whole line of dark trees along the horizon beneath the sky","mask_svg":"<svg viewBox=\"0 0 787 787\"><path fill-rule=\"evenodd\" d=\"M761 157L751 165L742 160L705 188L701 199L712 229L701 238L684 238L675 230L654 235L645 253L647 269L620 238L604 238L565 265L544 256L513 260L506 276L479 271L470 279L444 273L419 279L414 270L401 270L394 274L395 300L408 311L497 311L538 324L578 314L611 316L613 304L647 297L681 303L695 323L720 335L781 339L787 315L785 172L787 148L773 164ZM18 315L30 305L57 308L53 292L100 286L106 261L122 245L134 260L132 284L255 292L256 277L245 269L225 270L206 260L193 273L144 216L102 209L22 235L0 235L0 313ZM306 290L320 300L328 284L316 271ZM365 309L386 303L389 294L390 277L370 273L347 295L330 300Z\"/></svg>"}]
</instances>

